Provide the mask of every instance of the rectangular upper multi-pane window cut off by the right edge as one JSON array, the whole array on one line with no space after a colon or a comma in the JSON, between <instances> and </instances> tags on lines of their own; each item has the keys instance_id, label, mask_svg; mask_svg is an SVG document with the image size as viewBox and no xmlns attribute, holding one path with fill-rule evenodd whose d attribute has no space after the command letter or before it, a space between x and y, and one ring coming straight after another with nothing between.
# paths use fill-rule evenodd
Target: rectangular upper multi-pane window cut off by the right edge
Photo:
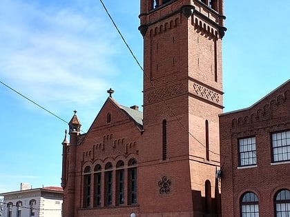
<instances>
[{"instance_id":1,"label":"rectangular upper multi-pane window cut off by the right edge","mask_svg":"<svg viewBox=\"0 0 290 217\"><path fill-rule=\"evenodd\" d=\"M290 161L290 131L272 134L273 162Z\"/></svg>"}]
</instances>

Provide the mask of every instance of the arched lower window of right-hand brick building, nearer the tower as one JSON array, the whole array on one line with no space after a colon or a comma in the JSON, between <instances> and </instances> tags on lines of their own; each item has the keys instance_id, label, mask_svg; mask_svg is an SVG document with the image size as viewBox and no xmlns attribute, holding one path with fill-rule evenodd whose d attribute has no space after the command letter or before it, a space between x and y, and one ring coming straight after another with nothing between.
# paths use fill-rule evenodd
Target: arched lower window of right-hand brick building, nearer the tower
<instances>
[{"instance_id":1,"label":"arched lower window of right-hand brick building, nearer the tower","mask_svg":"<svg viewBox=\"0 0 290 217\"><path fill-rule=\"evenodd\" d=\"M242 217L259 217L259 200L253 192L247 192L241 200Z\"/></svg>"}]
</instances>

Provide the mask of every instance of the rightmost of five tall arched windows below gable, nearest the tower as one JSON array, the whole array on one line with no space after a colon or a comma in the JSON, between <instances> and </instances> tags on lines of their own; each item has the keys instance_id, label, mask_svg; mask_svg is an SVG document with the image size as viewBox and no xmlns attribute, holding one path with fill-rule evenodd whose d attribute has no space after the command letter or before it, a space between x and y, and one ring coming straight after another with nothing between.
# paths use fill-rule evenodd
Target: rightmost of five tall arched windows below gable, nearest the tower
<instances>
[{"instance_id":1,"label":"rightmost of five tall arched windows below gable, nearest the tower","mask_svg":"<svg viewBox=\"0 0 290 217\"><path fill-rule=\"evenodd\" d=\"M128 204L137 203L137 161L133 158L128 163Z\"/></svg>"}]
</instances>

